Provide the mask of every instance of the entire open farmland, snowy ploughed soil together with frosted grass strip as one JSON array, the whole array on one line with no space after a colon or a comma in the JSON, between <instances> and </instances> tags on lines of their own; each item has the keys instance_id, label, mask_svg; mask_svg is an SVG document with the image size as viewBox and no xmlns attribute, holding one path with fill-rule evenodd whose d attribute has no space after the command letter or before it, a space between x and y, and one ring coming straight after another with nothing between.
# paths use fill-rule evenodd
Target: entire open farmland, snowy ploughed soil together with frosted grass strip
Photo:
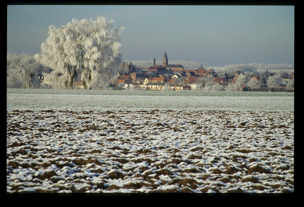
<instances>
[{"instance_id":1,"label":"entire open farmland, snowy ploughed soil together with frosted grass strip","mask_svg":"<svg viewBox=\"0 0 304 207\"><path fill-rule=\"evenodd\" d=\"M8 89L7 192L293 192L294 95L252 94Z\"/></svg>"}]
</instances>

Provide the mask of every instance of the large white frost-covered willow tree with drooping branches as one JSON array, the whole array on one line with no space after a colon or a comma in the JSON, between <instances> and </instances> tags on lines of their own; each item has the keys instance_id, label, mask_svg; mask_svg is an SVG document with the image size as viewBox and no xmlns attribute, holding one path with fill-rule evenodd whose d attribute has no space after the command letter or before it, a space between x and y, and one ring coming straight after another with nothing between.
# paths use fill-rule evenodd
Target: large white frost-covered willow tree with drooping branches
<instances>
[{"instance_id":1,"label":"large white frost-covered willow tree with drooping branches","mask_svg":"<svg viewBox=\"0 0 304 207\"><path fill-rule=\"evenodd\" d=\"M86 89L97 86L100 74L116 73L121 57L120 35L124 27L112 29L114 20L104 17L75 20L56 28L49 26L48 38L35 59L61 73L70 88L76 75Z\"/></svg>"}]
</instances>

